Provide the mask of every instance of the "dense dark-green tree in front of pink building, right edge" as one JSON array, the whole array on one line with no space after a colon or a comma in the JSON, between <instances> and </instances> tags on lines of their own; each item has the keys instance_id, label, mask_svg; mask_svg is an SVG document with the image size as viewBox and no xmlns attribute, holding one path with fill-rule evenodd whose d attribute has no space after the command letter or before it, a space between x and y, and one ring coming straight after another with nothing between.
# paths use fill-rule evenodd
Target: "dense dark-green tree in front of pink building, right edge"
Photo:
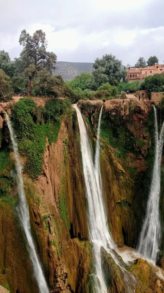
<instances>
[{"instance_id":1,"label":"dense dark-green tree in front of pink building, right edge","mask_svg":"<svg viewBox=\"0 0 164 293\"><path fill-rule=\"evenodd\" d=\"M144 80L144 87L148 93L164 91L164 76L163 74L149 75Z\"/></svg>"}]
</instances>

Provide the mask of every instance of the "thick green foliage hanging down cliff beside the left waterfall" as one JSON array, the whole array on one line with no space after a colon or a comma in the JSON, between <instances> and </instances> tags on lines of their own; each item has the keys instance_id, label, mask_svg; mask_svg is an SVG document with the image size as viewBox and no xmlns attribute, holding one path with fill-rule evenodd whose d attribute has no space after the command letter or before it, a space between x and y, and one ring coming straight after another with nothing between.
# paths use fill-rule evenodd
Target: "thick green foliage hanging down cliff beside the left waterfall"
<instances>
[{"instance_id":1,"label":"thick green foliage hanging down cliff beside the left waterfall","mask_svg":"<svg viewBox=\"0 0 164 293\"><path fill-rule=\"evenodd\" d=\"M22 156L27 157L25 171L36 178L42 172L43 152L46 137L49 143L56 142L60 129L60 116L69 112L69 100L48 100L45 108L36 107L30 98L20 99L11 106L11 120Z\"/></svg>"}]
</instances>

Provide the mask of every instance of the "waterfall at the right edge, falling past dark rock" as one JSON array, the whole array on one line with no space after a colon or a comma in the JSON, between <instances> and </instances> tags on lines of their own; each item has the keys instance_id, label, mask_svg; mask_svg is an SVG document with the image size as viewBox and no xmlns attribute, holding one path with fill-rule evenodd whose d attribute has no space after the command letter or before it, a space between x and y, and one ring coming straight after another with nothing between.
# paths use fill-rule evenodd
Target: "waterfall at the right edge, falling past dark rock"
<instances>
[{"instance_id":1,"label":"waterfall at the right edge, falling past dark rock","mask_svg":"<svg viewBox=\"0 0 164 293\"><path fill-rule=\"evenodd\" d=\"M156 261L158 247L160 243L160 164L163 150L163 133L164 122L158 134L157 111L155 106L155 161L153 166L153 175L151 181L151 189L147 202L146 217L139 238L138 251L145 258Z\"/></svg>"}]
</instances>

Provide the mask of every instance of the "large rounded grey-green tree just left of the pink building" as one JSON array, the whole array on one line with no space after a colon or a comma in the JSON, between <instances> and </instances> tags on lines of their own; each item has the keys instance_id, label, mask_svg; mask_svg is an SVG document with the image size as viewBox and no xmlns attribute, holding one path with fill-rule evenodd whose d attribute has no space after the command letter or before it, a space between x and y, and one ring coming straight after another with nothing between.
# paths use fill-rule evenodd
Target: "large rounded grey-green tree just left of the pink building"
<instances>
[{"instance_id":1,"label":"large rounded grey-green tree just left of the pink building","mask_svg":"<svg viewBox=\"0 0 164 293\"><path fill-rule=\"evenodd\" d=\"M101 59L96 58L93 63L93 81L98 86L104 83L116 85L121 79L122 62L112 54L105 54Z\"/></svg>"}]
</instances>

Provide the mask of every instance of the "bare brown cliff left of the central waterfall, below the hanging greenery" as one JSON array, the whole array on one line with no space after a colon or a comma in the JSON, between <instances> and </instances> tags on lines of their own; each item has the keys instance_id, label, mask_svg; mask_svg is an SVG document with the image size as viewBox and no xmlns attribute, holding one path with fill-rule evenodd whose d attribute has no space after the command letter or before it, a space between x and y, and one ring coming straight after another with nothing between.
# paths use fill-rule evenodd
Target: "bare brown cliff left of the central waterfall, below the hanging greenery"
<instances>
[{"instance_id":1,"label":"bare brown cliff left of the central waterfall, below the hanging greenery","mask_svg":"<svg viewBox=\"0 0 164 293\"><path fill-rule=\"evenodd\" d=\"M3 144L5 125L4 121ZM24 168L26 158L21 161ZM23 179L35 242L51 292L87 292L91 244L76 113L73 120L62 121L56 143L50 145L47 139L42 174L32 180L24 172ZM37 292L25 236L12 202L15 193L13 183L10 200L0 200L0 282L8 284L11 292Z\"/></svg>"}]
</instances>

